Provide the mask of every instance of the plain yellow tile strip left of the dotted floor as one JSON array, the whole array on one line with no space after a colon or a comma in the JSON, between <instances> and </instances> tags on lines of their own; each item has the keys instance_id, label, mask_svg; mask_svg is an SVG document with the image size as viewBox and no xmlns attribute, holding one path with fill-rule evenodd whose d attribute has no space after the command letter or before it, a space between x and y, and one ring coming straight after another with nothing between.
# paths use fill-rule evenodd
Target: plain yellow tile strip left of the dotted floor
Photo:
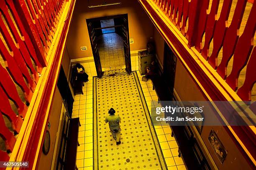
<instances>
[{"instance_id":1,"label":"plain yellow tile strip left of the dotted floor","mask_svg":"<svg viewBox=\"0 0 256 170\"><path fill-rule=\"evenodd\" d=\"M72 117L79 117L81 126L79 127L77 147L77 168L79 170L92 170L93 163L93 141L92 141L92 76L96 75L95 67L88 67L88 63L83 63L89 81L84 83L84 95L74 97ZM87 67L86 67L87 66Z\"/></svg>"}]
</instances>

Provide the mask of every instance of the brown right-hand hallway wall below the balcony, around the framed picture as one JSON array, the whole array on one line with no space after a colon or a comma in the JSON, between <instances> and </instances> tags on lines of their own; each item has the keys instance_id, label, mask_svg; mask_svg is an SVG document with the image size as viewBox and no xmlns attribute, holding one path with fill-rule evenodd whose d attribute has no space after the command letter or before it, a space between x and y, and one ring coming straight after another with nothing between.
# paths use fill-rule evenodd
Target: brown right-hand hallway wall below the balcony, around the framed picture
<instances>
[{"instance_id":1,"label":"brown right-hand hallway wall below the balcony, around the framed picture","mask_svg":"<svg viewBox=\"0 0 256 170\"><path fill-rule=\"evenodd\" d=\"M156 45L156 54L159 57L159 62L163 64L164 61L164 39L161 37L160 33L156 28L154 28L154 40ZM195 83L195 81L192 79L189 72L184 68L182 65L182 62L177 57L177 65L176 65L176 73L175 73L175 82L174 82L174 88L177 91L177 94L179 95L180 99L182 101L205 101L207 100L205 96L203 95L202 90L200 87ZM210 109L206 109L207 112L205 112L205 124L207 124L207 121L210 121L212 119L217 119L215 114L210 111ZM192 128L194 133L197 133L195 129ZM208 136L210 134L210 131L214 130L215 133L217 133L218 138L224 145L225 149L228 152L227 157L225 158L223 163L220 163L220 160L218 159L217 155L215 154L212 146L210 145L210 142L208 141ZM197 138L198 143L200 143L200 146L202 150L204 151L205 156L207 157L208 162L210 163L210 160L212 160L215 165L218 167L219 170L226 170L226 169L252 169L246 159L243 157L243 155L240 152L239 146L236 145L236 143L230 138L230 135L228 134L227 130L223 126L204 126L202 128L202 132L199 135L199 138ZM201 141L201 142L200 142ZM203 147L205 145L205 149ZM214 165L214 163L212 165ZM210 163L211 164L211 163ZM215 169L214 166L212 166L212 169Z\"/></svg>"}]
</instances>

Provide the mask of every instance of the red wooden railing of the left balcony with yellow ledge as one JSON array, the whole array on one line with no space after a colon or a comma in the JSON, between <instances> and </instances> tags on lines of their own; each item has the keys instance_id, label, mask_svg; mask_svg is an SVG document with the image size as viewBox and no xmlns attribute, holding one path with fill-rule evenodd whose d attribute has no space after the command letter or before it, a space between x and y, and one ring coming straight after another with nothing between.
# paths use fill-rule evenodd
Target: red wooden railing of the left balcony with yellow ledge
<instances>
[{"instance_id":1,"label":"red wooden railing of the left balcony with yellow ledge","mask_svg":"<svg viewBox=\"0 0 256 170\"><path fill-rule=\"evenodd\" d=\"M27 125L38 123L39 117L33 119L35 122L29 122L31 112L36 103L43 102L44 95L38 94L38 83L51 80L44 68L52 69L54 74L58 74L55 65L61 60L62 46L65 36L60 31L67 30L71 20L69 10L74 7L75 0L0 0L0 160L10 160L14 155L13 150L18 138L23 138L25 134L20 134L20 130L26 129ZM67 5L68 4L68 5ZM67 7L68 6L68 7ZM66 10L65 16L64 9ZM61 20L61 17L62 20ZM68 24L66 24L66 23ZM65 23L65 24L63 24ZM67 33L65 31L65 33ZM57 37L57 38L56 38ZM57 40L59 39L59 40ZM60 44L54 43L61 42ZM64 43L64 44L62 44ZM54 50L51 46L55 45ZM54 56L56 55L56 56ZM56 59L55 59L56 58ZM59 59L59 60L57 60ZM48 64L49 62L49 64ZM56 62L56 63L55 63ZM53 65L53 66L52 66ZM44 70L44 77L41 73ZM42 82L41 81L41 82ZM47 82L47 81L46 81ZM41 83L39 86L43 85ZM49 84L48 84L49 86ZM44 90L54 90L44 88ZM36 90L37 89L37 90ZM47 91L46 91L47 92ZM36 93L36 96L35 96ZM43 92L44 93L44 92ZM33 98L34 97L34 98ZM33 101L32 101L33 100ZM32 104L31 104L32 103ZM30 109L29 109L30 108ZM30 110L30 111L28 111ZM46 112L47 110L40 110ZM37 112L41 114L41 112ZM41 121L47 117L40 117ZM27 119L26 125L23 125ZM44 128L41 131L44 131ZM33 130L31 130L33 132ZM30 132L26 132L30 133ZM32 134L34 135L34 134ZM32 141L33 138L31 137ZM31 142L32 142L31 141ZM15 151L13 160L18 159L19 146ZM35 140L33 141L35 142ZM39 145L34 145L33 147ZM26 148L27 147L27 148ZM29 153L31 146L25 146L26 152ZM20 154L20 153L19 153ZM22 155L22 158L26 158ZM32 155L35 159L35 156ZM30 158L26 158L29 160ZM31 168L33 167L33 162Z\"/></svg>"}]
</instances>

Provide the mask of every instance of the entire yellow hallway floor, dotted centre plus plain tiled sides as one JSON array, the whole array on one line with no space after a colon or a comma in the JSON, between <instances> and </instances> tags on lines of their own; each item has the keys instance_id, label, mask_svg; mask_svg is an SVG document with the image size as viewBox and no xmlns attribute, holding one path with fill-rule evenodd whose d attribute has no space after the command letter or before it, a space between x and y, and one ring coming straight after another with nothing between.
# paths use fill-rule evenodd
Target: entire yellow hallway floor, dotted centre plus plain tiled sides
<instances>
[{"instance_id":1,"label":"entire yellow hallway floor, dotted centre plus plain tiled sides","mask_svg":"<svg viewBox=\"0 0 256 170\"><path fill-rule=\"evenodd\" d=\"M143 82L139 72L128 75L124 69L89 79L84 95L75 96L72 116L79 117L82 125L77 150L79 170L186 169L169 125L161 122L152 126L151 101L156 101L157 95L150 80ZM104 121L110 107L122 119L118 146Z\"/></svg>"}]
</instances>

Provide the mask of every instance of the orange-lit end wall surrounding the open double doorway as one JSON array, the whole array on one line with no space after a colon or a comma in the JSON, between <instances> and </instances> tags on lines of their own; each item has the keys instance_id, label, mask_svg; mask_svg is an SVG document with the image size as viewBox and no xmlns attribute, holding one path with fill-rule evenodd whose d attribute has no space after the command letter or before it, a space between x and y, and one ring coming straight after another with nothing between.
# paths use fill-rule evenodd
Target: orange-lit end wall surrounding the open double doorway
<instances>
[{"instance_id":1,"label":"orange-lit end wall surrounding the open double doorway","mask_svg":"<svg viewBox=\"0 0 256 170\"><path fill-rule=\"evenodd\" d=\"M108 3L111 2L116 2L116 0L108 1ZM86 19L111 15L127 13L129 37L134 39L134 43L130 45L131 51L146 49L149 37L153 36L154 26L151 20L137 0L118 0L118 2L122 4L89 8L88 5L102 4L103 0L77 1L67 38L67 50L71 59L93 56ZM81 51L82 46L87 46L87 50Z\"/></svg>"}]
</instances>

